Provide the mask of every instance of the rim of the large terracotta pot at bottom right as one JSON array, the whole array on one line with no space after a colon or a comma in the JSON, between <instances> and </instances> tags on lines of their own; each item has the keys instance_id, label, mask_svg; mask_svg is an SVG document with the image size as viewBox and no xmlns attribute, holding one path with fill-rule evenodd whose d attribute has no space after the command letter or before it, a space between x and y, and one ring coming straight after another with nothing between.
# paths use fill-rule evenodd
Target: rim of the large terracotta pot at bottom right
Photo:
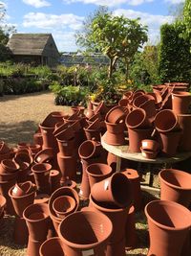
<instances>
[{"instance_id":1,"label":"rim of the large terracotta pot at bottom right","mask_svg":"<svg viewBox=\"0 0 191 256\"><path fill-rule=\"evenodd\" d=\"M160 204L163 204L163 205L168 205L168 206L172 206L172 207L175 207L175 208L179 208L181 210L181 212L184 212L185 214L189 215L189 217L190 217L190 211L187 208L185 208L184 206L182 206L180 203L175 202L175 201L170 201L170 200L159 200L158 199L158 200L150 201L149 203L147 203L147 205L144 208L144 213L145 213L148 220L154 222L160 228L165 229L165 230L169 230L169 231L180 231L180 230L183 230L185 228L190 227L190 224L189 225L184 225L182 227L171 227L171 226L161 224L158 221L155 221L148 213L149 206L154 204L154 203L160 203ZM191 217L190 217L190 222L191 222Z\"/></svg>"}]
</instances>

